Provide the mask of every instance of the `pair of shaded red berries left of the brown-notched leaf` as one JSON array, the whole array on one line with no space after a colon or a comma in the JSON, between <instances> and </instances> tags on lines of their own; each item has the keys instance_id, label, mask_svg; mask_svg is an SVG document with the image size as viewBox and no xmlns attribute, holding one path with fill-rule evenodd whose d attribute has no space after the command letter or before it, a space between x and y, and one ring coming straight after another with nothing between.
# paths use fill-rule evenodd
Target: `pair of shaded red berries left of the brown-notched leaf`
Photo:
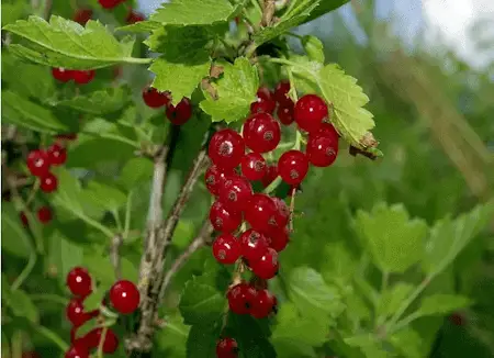
<instances>
[{"instance_id":1,"label":"pair of shaded red berries left of the brown-notched leaf","mask_svg":"<svg viewBox=\"0 0 494 358\"><path fill-rule=\"evenodd\" d=\"M177 105L173 105L170 103L170 92L160 92L148 86L143 90L143 100L151 109L166 107L167 119L175 125L186 124L192 116L192 104L187 97L183 97Z\"/></svg>"}]
</instances>

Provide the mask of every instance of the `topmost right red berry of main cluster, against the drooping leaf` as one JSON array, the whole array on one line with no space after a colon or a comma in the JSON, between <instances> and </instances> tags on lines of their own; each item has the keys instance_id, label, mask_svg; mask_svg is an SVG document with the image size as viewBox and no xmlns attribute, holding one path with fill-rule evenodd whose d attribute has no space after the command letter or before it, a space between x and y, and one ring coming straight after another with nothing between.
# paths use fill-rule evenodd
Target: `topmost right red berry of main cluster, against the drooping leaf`
<instances>
[{"instance_id":1,"label":"topmost right red berry of main cluster, against the drooping leaf","mask_svg":"<svg viewBox=\"0 0 494 358\"><path fill-rule=\"evenodd\" d=\"M314 133L327 116L327 105L316 94L305 94L295 104L293 116L299 127L305 132Z\"/></svg>"}]
</instances>

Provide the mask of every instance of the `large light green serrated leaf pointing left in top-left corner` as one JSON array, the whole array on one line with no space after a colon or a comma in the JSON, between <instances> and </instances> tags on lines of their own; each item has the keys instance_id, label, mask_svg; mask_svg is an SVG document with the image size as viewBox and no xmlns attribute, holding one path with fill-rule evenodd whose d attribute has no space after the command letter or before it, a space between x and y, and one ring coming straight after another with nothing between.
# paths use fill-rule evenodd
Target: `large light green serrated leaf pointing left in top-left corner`
<instances>
[{"instance_id":1,"label":"large light green serrated leaf pointing left in top-left corner","mask_svg":"<svg viewBox=\"0 0 494 358\"><path fill-rule=\"evenodd\" d=\"M3 30L27 41L30 47L13 44L10 49L37 64L71 69L92 69L119 63L148 63L133 58L133 40L119 42L98 21L90 20L86 29L77 22L53 15L49 23L31 15Z\"/></svg>"}]
</instances>

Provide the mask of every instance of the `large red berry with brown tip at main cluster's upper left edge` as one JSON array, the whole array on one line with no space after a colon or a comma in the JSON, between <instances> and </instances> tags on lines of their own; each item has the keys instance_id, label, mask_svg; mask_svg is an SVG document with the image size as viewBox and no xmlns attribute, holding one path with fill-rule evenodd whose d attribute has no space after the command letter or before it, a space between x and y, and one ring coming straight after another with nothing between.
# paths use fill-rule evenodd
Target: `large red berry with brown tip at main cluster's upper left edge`
<instances>
[{"instance_id":1,"label":"large red berry with brown tip at main cluster's upper left edge","mask_svg":"<svg viewBox=\"0 0 494 358\"><path fill-rule=\"evenodd\" d=\"M211 138L207 154L214 165L233 169L240 164L245 154L244 138L234 130L222 130Z\"/></svg>"}]
</instances>

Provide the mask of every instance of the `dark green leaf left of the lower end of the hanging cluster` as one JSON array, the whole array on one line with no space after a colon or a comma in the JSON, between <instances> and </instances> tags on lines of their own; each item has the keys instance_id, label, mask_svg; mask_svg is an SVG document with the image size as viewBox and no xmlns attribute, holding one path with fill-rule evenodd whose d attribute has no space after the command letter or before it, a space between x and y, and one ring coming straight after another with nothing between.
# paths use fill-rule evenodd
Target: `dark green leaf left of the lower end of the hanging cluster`
<instances>
[{"instance_id":1,"label":"dark green leaf left of the lower end of the hanging cluster","mask_svg":"<svg viewBox=\"0 0 494 358\"><path fill-rule=\"evenodd\" d=\"M226 299L215 287L199 283L195 278L186 283L180 297L179 309L183 323L209 325L223 315Z\"/></svg>"}]
</instances>

